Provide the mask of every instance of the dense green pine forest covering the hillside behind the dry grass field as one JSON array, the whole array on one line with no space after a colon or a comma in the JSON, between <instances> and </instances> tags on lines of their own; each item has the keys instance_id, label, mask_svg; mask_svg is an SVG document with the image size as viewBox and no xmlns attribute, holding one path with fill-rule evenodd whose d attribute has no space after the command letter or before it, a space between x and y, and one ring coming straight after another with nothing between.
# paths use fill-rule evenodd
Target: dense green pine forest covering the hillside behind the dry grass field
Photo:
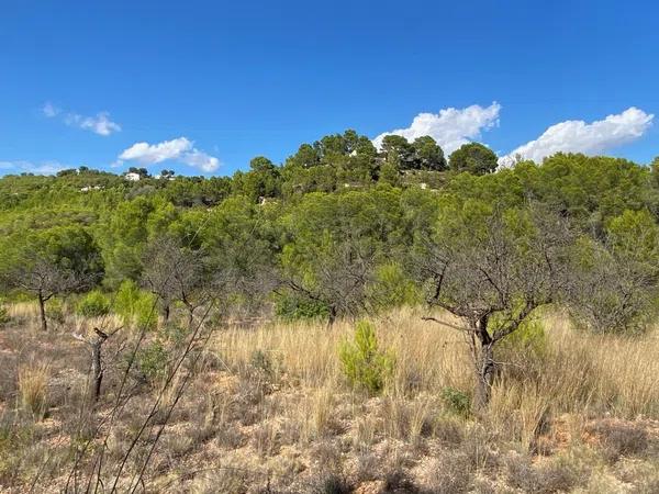
<instances>
[{"instance_id":1,"label":"dense green pine forest covering the hillside behind the dry grass field","mask_svg":"<svg viewBox=\"0 0 659 494\"><path fill-rule=\"evenodd\" d=\"M231 178L132 168L139 180L126 180L86 167L5 176L3 290L44 306L132 282L163 311L179 302L193 312L216 297L254 310L258 299L259 310L273 303L284 317L332 321L421 302L448 258L469 247L474 261L488 260L492 228L533 249L554 220L571 244L563 263L582 274L561 282L582 287L547 296L590 310L589 324L602 330L638 326L656 284L659 160L557 154L499 170L496 162L477 143L446 158L432 137L388 136L378 151L346 131L303 144L282 166L256 157ZM180 287L164 283L177 271L186 271ZM601 293L578 296L588 277ZM435 302L461 296L445 289Z\"/></svg>"}]
</instances>

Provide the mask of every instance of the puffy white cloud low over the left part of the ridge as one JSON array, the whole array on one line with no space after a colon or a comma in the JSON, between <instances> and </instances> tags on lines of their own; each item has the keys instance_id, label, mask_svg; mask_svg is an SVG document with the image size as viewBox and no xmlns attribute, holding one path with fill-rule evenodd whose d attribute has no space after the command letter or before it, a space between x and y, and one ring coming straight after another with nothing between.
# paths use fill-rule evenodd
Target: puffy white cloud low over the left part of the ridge
<instances>
[{"instance_id":1,"label":"puffy white cloud low over the left part of the ridge","mask_svg":"<svg viewBox=\"0 0 659 494\"><path fill-rule=\"evenodd\" d=\"M119 159L134 160L144 165L178 160L205 172L214 171L220 166L217 158L197 149L194 143L187 137L158 144L135 143L119 155Z\"/></svg>"}]
</instances>

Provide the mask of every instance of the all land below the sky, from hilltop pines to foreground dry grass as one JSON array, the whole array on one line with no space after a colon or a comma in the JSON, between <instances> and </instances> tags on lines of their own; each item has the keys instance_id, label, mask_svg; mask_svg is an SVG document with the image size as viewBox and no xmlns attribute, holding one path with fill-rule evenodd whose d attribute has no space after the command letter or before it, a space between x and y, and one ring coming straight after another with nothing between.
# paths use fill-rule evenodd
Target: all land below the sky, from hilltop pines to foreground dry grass
<instances>
[{"instance_id":1,"label":"all land below the sky, from hilltop pines to foreground dry grass","mask_svg":"<svg viewBox=\"0 0 659 494\"><path fill-rule=\"evenodd\" d=\"M0 486L656 491L658 165L495 162L0 179Z\"/></svg>"}]
</instances>

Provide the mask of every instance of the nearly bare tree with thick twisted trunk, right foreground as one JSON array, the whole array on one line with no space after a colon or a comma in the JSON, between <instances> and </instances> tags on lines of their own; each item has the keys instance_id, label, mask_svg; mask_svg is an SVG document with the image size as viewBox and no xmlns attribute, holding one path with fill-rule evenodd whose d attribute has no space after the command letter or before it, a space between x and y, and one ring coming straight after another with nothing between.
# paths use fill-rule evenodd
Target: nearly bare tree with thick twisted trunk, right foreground
<instances>
[{"instance_id":1,"label":"nearly bare tree with thick twisted trunk, right foreground","mask_svg":"<svg viewBox=\"0 0 659 494\"><path fill-rule=\"evenodd\" d=\"M476 411L490 400L496 345L565 289L570 243L560 216L479 201L444 204L431 236L417 238L427 302L462 321L456 327L473 355Z\"/></svg>"}]
</instances>

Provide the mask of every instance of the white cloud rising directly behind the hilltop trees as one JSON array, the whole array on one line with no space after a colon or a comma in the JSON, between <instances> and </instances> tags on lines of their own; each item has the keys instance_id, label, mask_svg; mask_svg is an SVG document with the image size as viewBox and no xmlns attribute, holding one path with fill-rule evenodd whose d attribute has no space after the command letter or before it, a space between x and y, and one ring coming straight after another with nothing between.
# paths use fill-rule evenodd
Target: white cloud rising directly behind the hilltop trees
<instances>
[{"instance_id":1,"label":"white cloud rising directly behind the hilltop trees","mask_svg":"<svg viewBox=\"0 0 659 494\"><path fill-rule=\"evenodd\" d=\"M414 117L407 128L380 134L373 139L376 147L380 147L387 135L402 135L412 142L416 137L429 135L447 155L473 139L480 138L483 131L499 125L501 105L493 102L483 108L472 104L463 109L447 108L439 113L420 113Z\"/></svg>"}]
</instances>

